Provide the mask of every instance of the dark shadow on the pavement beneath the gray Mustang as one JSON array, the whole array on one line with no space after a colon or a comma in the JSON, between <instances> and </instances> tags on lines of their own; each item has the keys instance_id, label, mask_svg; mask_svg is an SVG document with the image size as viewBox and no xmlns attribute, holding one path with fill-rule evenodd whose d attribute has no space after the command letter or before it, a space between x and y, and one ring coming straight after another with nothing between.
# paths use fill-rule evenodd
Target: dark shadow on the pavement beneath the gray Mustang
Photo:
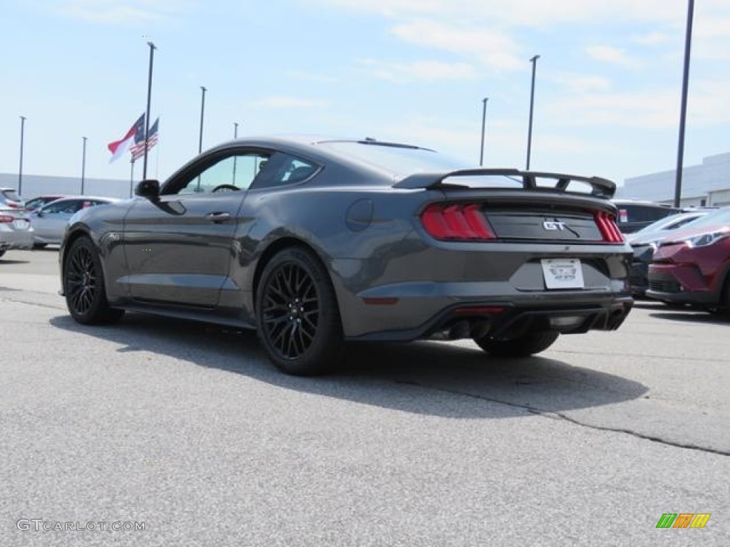
<instances>
[{"instance_id":1,"label":"dark shadow on the pavement beneath the gray Mustang","mask_svg":"<svg viewBox=\"0 0 730 547\"><path fill-rule=\"evenodd\" d=\"M132 367L142 362L153 366L154 360L142 356L162 354L180 360L181 366L190 362L284 389L447 418L562 413L634 400L648 392L643 384L580 362L491 358L471 342L352 343L337 373L298 378L270 364L253 331L235 327L144 314L127 314L109 327L85 327L68 316L53 317L50 323L120 344L116 351L130 354Z\"/></svg>"}]
</instances>

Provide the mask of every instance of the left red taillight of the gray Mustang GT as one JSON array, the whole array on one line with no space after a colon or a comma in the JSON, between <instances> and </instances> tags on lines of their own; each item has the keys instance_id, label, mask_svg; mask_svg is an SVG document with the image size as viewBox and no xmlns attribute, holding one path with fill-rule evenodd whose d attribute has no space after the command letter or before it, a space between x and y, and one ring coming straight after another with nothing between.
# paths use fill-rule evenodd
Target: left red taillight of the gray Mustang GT
<instances>
[{"instance_id":1,"label":"left red taillight of the gray Mustang GT","mask_svg":"<svg viewBox=\"0 0 730 547\"><path fill-rule=\"evenodd\" d=\"M496 239L478 203L431 203L420 215L420 222L437 239Z\"/></svg>"}]
</instances>

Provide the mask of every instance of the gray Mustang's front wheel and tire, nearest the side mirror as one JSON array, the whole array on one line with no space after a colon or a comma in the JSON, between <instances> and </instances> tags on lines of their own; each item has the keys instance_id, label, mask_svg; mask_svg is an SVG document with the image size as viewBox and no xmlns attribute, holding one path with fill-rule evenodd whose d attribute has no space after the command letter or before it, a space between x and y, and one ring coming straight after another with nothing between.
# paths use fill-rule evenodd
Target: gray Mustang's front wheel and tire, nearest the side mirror
<instances>
[{"instance_id":1,"label":"gray Mustang's front wheel and tire, nearest the side mirror","mask_svg":"<svg viewBox=\"0 0 730 547\"><path fill-rule=\"evenodd\" d=\"M99 251L87 237L72 243L64 261L64 295L69 314L82 325L114 323L124 315L107 302Z\"/></svg>"}]
</instances>

